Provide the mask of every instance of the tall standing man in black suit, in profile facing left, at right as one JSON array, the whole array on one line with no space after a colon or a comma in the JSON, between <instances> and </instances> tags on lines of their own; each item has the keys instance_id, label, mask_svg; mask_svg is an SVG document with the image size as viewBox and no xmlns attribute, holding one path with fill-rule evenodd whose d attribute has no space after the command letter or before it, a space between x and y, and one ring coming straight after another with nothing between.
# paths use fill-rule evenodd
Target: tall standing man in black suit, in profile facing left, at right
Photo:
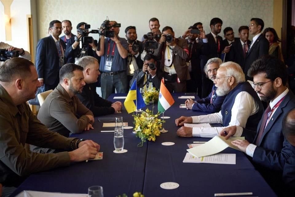
<instances>
[{"instance_id":1,"label":"tall standing man in black suit, in profile facing left, at right","mask_svg":"<svg viewBox=\"0 0 295 197\"><path fill-rule=\"evenodd\" d=\"M249 25L249 32L254 37L250 44L248 53L246 54L245 64L243 67L246 80L249 79L253 81L252 77L247 76L247 72L251 64L262 55L268 54L269 42L262 34L263 27L264 27L264 22L261 18L251 18L251 22Z\"/></svg>"}]
</instances>

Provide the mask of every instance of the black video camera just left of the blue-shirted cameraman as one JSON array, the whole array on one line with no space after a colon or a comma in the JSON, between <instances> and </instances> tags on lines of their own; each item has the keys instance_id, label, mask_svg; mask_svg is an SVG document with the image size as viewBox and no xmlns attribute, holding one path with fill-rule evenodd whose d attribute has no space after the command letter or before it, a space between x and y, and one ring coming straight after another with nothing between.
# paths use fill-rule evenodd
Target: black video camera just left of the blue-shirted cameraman
<instances>
[{"instance_id":1,"label":"black video camera just left of the blue-shirted cameraman","mask_svg":"<svg viewBox=\"0 0 295 197\"><path fill-rule=\"evenodd\" d=\"M90 25L85 24L84 29L78 28L77 32L82 35L80 38L80 48L81 52L78 54L78 57L87 56L87 46L92 43L93 37L88 36L89 34L98 34L98 30L90 30ZM94 44L97 46L97 40L94 40Z\"/></svg>"}]
</instances>

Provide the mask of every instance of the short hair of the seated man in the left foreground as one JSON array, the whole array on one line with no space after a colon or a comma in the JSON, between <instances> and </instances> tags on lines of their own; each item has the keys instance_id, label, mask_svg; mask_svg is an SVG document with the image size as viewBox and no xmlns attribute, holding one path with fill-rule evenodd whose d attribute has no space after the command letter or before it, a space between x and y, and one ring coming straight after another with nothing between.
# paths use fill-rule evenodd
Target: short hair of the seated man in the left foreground
<instances>
[{"instance_id":1,"label":"short hair of the seated man in the left foreground","mask_svg":"<svg viewBox=\"0 0 295 197\"><path fill-rule=\"evenodd\" d=\"M30 66L34 66L33 62L25 58L8 59L0 66L0 81L12 82L15 77L27 78L32 74Z\"/></svg>"}]
</instances>

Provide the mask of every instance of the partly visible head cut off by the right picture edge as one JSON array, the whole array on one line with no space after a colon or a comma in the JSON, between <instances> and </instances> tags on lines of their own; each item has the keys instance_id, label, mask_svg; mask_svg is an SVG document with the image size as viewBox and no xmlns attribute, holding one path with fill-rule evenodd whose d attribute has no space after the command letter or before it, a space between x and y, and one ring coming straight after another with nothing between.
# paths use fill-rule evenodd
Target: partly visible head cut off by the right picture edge
<instances>
[{"instance_id":1,"label":"partly visible head cut off by the right picture edge","mask_svg":"<svg viewBox=\"0 0 295 197\"><path fill-rule=\"evenodd\" d=\"M295 137L295 109L290 110L283 119L283 134L287 140L289 136Z\"/></svg>"}]
</instances>

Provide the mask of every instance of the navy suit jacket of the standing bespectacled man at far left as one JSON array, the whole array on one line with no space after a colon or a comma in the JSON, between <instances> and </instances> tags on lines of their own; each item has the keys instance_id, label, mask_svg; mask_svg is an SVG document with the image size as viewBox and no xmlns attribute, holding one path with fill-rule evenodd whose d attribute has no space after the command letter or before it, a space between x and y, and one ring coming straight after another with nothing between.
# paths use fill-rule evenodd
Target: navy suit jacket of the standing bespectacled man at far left
<instances>
[{"instance_id":1,"label":"navy suit jacket of the standing bespectacled man at far left","mask_svg":"<svg viewBox=\"0 0 295 197\"><path fill-rule=\"evenodd\" d=\"M61 39L60 42L65 54L65 42ZM64 63L66 62L65 55ZM38 78L43 78L45 84L53 85L57 77L59 77L60 65L57 47L51 35L38 41L35 65Z\"/></svg>"}]
</instances>

